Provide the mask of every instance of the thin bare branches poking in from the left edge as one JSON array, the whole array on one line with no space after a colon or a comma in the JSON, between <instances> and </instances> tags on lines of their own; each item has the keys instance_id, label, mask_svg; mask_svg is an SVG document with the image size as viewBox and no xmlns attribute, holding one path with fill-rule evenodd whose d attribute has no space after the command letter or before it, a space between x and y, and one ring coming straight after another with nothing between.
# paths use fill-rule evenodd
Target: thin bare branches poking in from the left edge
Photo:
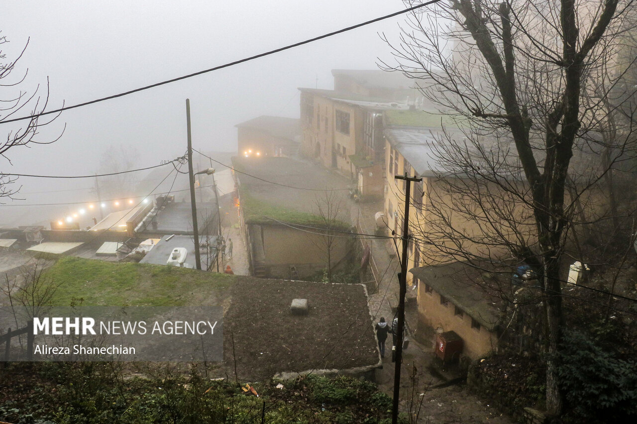
<instances>
[{"instance_id":1,"label":"thin bare branches poking in from the left edge","mask_svg":"<svg viewBox=\"0 0 637 424\"><path fill-rule=\"evenodd\" d=\"M0 156L2 156L9 164L11 160L7 156L8 150L18 146L30 146L30 145L48 145L57 141L62 134L57 138L43 141L38 138L39 130L45 125L50 124L59 116L48 120L41 120L39 116L45 111L48 106L48 80L47 91L45 94L40 95L40 87L36 87L31 93L23 91L19 87L24 83L27 76L27 71L24 74L15 77L13 72L18 63L18 60L22 58L27 45L24 46L22 52L16 59L7 60L6 54L1 50L2 46L9 41L6 36L0 36L0 88L3 90L3 94L0 95L0 124L3 124L6 120L17 118L19 114L30 115L31 118L20 120L10 124L4 124L6 131L6 138L0 141ZM62 133L64 130L62 130ZM15 195L20 187L15 187L14 184L17 181L17 177L0 173L0 199L2 197L11 198Z\"/></svg>"}]
</instances>

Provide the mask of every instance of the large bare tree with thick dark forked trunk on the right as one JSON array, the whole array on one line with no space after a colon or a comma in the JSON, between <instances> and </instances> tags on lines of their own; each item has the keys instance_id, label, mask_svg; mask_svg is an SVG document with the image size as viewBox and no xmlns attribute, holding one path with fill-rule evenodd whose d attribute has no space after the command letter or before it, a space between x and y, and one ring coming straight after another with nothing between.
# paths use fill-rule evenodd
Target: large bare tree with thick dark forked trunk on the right
<instances>
[{"instance_id":1,"label":"large bare tree with thick dark forked trunk on the right","mask_svg":"<svg viewBox=\"0 0 637 424\"><path fill-rule=\"evenodd\" d=\"M464 127L439 137L440 184L427 188L422 243L441 258L501 260L506 251L539 272L554 414L560 265L581 223L578 202L604 215L595 189L627 152L629 134L599 134L612 113L601 100L619 79L609 58L632 11L631 0L450 0L414 12L393 47L396 64L383 64ZM596 81L588 91L587 81ZM606 145L605 160L590 160Z\"/></svg>"}]
</instances>

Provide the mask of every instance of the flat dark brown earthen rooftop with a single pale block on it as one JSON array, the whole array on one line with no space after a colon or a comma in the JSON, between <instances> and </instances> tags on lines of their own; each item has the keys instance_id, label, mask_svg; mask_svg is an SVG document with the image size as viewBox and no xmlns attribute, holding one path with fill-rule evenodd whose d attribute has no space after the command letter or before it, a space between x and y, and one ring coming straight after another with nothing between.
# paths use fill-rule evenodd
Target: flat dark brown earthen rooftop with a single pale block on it
<instances>
[{"instance_id":1,"label":"flat dark brown earthen rooftop with a single pale block on it","mask_svg":"<svg viewBox=\"0 0 637 424\"><path fill-rule=\"evenodd\" d=\"M247 381L310 370L369 370L380 354L360 284L315 283L238 276L224 314L224 362ZM308 314L290 312L307 299Z\"/></svg>"}]
</instances>

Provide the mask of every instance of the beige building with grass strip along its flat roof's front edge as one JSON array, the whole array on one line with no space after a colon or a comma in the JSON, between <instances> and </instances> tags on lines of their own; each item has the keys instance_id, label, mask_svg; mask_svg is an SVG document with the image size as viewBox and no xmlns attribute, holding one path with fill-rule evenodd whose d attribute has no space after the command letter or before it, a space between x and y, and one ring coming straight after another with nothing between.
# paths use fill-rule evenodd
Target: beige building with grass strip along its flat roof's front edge
<instances>
[{"instance_id":1,"label":"beige building with grass strip along its flat roof's front edge","mask_svg":"<svg viewBox=\"0 0 637 424\"><path fill-rule=\"evenodd\" d=\"M351 225L345 178L285 157L236 157L233 164L241 171L235 173L240 224L254 276L316 279L328 260L334 272L350 267L356 244L347 235ZM326 187L334 191L324 191ZM320 213L327 204L331 216Z\"/></svg>"}]
</instances>

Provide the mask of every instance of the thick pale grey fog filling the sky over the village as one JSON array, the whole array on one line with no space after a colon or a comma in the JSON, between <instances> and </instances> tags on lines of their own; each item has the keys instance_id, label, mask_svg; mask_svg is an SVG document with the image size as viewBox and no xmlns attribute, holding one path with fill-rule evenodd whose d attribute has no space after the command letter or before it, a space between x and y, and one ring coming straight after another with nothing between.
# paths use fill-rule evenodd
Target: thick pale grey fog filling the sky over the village
<instances>
[{"instance_id":1,"label":"thick pale grey fog filling the sky over the village","mask_svg":"<svg viewBox=\"0 0 637 424\"><path fill-rule=\"evenodd\" d=\"M13 60L28 40L14 79L28 69L20 89L32 93L39 84L45 95L48 78L48 109L54 109L195 73L403 8L400 0L20 1L3 4L0 35L10 43L1 48L3 62ZM129 152L127 160L135 167L175 159L186 150L186 98L192 108L193 147L234 152L234 125L259 115L296 118L298 87L331 89L332 69L376 69L377 57L390 59L378 33L395 36L397 22L403 20L390 18L245 64L65 111L36 138L55 139L66 125L59 141L12 148L6 153L11 163L0 157L0 171L94 174L101 167L104 171L104 154L120 149ZM3 137L16 128L11 125L0 126ZM162 169L168 174L171 167ZM147 175L131 178L140 181ZM19 186L16 197L24 200L1 199L5 205L0 205L0 226L48 222L75 208L17 204L96 199L90 190L93 179L22 177L14 185Z\"/></svg>"}]
</instances>

